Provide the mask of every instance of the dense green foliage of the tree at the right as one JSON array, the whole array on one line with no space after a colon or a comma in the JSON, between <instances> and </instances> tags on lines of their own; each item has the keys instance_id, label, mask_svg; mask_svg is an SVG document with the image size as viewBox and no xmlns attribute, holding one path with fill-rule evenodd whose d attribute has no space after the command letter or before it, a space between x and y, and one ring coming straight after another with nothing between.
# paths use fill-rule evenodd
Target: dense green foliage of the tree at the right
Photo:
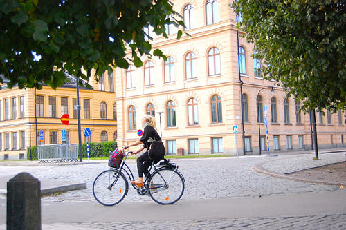
<instances>
[{"instance_id":1,"label":"dense green foliage of the tree at the right","mask_svg":"<svg viewBox=\"0 0 346 230\"><path fill-rule=\"evenodd\" d=\"M345 1L237 0L233 8L266 79L304 110L346 108Z\"/></svg>"}]
</instances>

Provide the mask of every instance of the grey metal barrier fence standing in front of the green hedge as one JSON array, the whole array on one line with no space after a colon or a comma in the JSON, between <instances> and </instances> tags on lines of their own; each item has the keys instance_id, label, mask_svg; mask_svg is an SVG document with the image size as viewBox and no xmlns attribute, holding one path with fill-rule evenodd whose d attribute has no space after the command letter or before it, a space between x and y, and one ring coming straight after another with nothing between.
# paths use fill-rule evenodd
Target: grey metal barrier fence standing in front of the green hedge
<instances>
[{"instance_id":1,"label":"grey metal barrier fence standing in front of the green hedge","mask_svg":"<svg viewBox=\"0 0 346 230\"><path fill-rule=\"evenodd\" d=\"M44 144L37 152L39 163L78 162L78 144Z\"/></svg>"}]
</instances>

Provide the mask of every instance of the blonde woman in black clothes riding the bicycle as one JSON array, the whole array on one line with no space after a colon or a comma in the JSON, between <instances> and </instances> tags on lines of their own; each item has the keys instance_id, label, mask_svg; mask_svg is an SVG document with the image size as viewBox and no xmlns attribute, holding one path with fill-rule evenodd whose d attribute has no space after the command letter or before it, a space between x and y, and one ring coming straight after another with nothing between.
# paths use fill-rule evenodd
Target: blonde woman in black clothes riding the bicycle
<instances>
[{"instance_id":1,"label":"blonde woman in black clothes riding the bicycle","mask_svg":"<svg viewBox=\"0 0 346 230\"><path fill-rule=\"evenodd\" d=\"M152 165L152 162L156 164L162 160L165 155L165 146L163 146L161 137L155 130L155 118L150 115L145 115L142 119L142 126L143 135L140 137L140 140L124 147L127 149L131 146L143 144L143 146L139 148L138 151L134 151L133 154L140 153L145 148L147 149L145 153L137 158L138 180L131 181L131 184L135 184L138 187L143 186L143 173L145 177L149 176L148 168Z\"/></svg>"}]
</instances>

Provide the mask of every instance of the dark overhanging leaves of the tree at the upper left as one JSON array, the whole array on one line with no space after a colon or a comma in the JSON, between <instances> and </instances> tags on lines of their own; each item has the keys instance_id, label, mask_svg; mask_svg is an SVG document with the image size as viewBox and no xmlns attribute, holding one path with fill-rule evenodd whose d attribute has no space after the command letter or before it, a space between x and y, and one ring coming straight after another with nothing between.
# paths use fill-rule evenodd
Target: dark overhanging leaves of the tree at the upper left
<instances>
[{"instance_id":1,"label":"dark overhanging leaves of the tree at the upper left","mask_svg":"<svg viewBox=\"0 0 346 230\"><path fill-rule=\"evenodd\" d=\"M66 71L88 80L93 68L102 75L110 66L139 67L142 55L165 58L143 28L167 37L171 23L183 26L169 0L0 0L0 74L9 88L56 88Z\"/></svg>"}]
</instances>

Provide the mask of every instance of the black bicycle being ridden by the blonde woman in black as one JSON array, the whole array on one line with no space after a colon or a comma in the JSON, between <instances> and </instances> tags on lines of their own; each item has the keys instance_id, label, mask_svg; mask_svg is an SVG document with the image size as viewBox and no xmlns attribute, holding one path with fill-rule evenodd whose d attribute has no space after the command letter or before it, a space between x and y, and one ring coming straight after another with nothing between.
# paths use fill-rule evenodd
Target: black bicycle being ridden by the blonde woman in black
<instances>
[{"instance_id":1,"label":"black bicycle being ridden by the blonde woman in black","mask_svg":"<svg viewBox=\"0 0 346 230\"><path fill-rule=\"evenodd\" d=\"M118 169L110 168L100 173L93 182L93 196L100 204L113 206L120 203L129 191L129 180L134 180L134 175L126 164L125 153ZM157 165L152 163L149 167L149 176L145 178L140 188L131 184L139 195L149 195L158 204L174 204L183 195L185 178L178 170L179 166L163 159ZM127 175L127 176L126 176Z\"/></svg>"}]
</instances>

